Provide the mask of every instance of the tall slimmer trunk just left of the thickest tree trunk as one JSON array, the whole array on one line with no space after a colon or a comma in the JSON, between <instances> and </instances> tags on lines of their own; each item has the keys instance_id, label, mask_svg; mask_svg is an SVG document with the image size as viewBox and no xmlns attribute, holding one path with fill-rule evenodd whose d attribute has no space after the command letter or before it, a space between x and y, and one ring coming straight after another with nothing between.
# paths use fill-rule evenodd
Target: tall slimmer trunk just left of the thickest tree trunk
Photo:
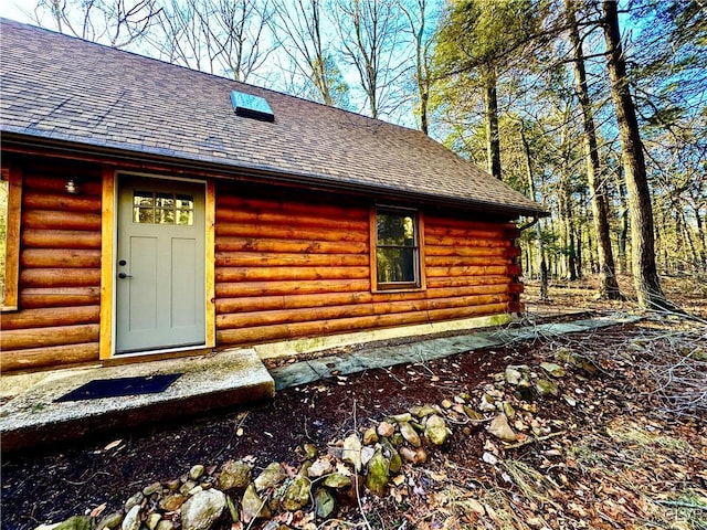
<instances>
[{"instance_id":1,"label":"tall slimmer trunk just left of the thickest tree trunk","mask_svg":"<svg viewBox=\"0 0 707 530\"><path fill-rule=\"evenodd\" d=\"M609 199L606 186L600 178L599 151L597 147L597 131L594 117L589 100L589 87L587 85L587 70L584 67L584 54L582 42L577 25L573 0L564 0L567 19L570 29L570 43L572 44L574 64L574 85L582 110L582 125L584 128L584 156L587 157L587 178L592 193L592 218L594 232L597 233L597 253L599 258L599 296L610 300L623 298L616 282L614 256L611 251L611 230L609 226Z\"/></svg>"}]
</instances>

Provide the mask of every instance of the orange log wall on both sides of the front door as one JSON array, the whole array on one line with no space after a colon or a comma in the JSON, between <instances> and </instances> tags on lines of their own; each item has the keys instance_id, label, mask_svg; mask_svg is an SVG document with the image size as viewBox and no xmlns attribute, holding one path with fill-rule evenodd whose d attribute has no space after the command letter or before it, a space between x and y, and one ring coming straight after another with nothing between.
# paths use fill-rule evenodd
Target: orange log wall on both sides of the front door
<instances>
[{"instance_id":1,"label":"orange log wall on both sides of the front door","mask_svg":"<svg viewBox=\"0 0 707 530\"><path fill-rule=\"evenodd\" d=\"M20 309L0 314L0 368L98 361L101 167L19 166ZM217 184L219 347L518 310L514 225L422 210L426 288L372 293L369 204L276 193Z\"/></svg>"}]
</instances>

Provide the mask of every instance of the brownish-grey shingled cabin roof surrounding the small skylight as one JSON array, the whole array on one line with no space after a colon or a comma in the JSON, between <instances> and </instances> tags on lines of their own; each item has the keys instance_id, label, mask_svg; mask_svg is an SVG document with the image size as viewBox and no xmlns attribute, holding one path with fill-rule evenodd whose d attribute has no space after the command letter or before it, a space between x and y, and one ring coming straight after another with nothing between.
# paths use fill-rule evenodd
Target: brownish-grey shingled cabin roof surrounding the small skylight
<instances>
[{"instance_id":1,"label":"brownish-grey shingled cabin roof surrounding the small skylight","mask_svg":"<svg viewBox=\"0 0 707 530\"><path fill-rule=\"evenodd\" d=\"M0 22L3 139L106 149L509 216L542 214L424 134L14 21ZM236 116L264 97L273 123Z\"/></svg>"}]
</instances>

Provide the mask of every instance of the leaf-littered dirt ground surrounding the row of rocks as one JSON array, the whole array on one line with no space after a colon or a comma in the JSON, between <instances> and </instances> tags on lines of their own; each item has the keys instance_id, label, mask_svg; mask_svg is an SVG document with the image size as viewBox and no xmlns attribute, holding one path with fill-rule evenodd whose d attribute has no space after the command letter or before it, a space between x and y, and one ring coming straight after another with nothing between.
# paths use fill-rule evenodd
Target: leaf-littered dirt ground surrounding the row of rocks
<instances>
[{"instance_id":1,"label":"leaf-littered dirt ground surrounding the row of rocks","mask_svg":"<svg viewBox=\"0 0 707 530\"><path fill-rule=\"evenodd\" d=\"M595 300L592 287L555 285L550 301L540 303L530 283L528 315L635 310L630 301ZM274 507L270 518L250 522L242 512L218 528L707 530L707 287L685 278L664 287L701 321L645 315L591 333L538 333L504 348L286 389L249 410L10 455L2 462L2 528L87 513L99 520L155 481L187 480L194 465L214 476L232 459L254 475L271 463L293 470L306 444L318 462L337 463L334 449L352 433L431 404L446 418L449 439L403 464L384 495L361 488L358 497L337 496L326 520L310 502L294 513ZM506 369L526 365L538 377L544 362L563 368L550 378L557 392L520 399ZM515 442L465 416L484 409L485 395L498 406L484 416L504 414ZM145 524L179 528L178 515L169 519L171 527L157 527L157 518Z\"/></svg>"}]
</instances>

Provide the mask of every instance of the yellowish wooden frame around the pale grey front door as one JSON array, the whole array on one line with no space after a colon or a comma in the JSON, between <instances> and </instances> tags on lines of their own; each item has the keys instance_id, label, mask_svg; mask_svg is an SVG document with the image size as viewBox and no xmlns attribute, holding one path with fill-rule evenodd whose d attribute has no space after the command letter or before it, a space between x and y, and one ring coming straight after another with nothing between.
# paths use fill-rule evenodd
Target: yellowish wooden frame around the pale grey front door
<instances>
[{"instance_id":1,"label":"yellowish wooden frame around the pale grey front door","mask_svg":"<svg viewBox=\"0 0 707 530\"><path fill-rule=\"evenodd\" d=\"M173 180L203 184L204 187L204 337L205 343L198 347L155 349L135 353L122 353L119 359L152 358L159 353L201 352L215 347L215 184L213 180L173 177L169 173L144 173L125 171L113 167L103 168L102 222L101 222L101 339L99 359L116 359L116 274L118 245L118 186L120 177Z\"/></svg>"}]
</instances>

